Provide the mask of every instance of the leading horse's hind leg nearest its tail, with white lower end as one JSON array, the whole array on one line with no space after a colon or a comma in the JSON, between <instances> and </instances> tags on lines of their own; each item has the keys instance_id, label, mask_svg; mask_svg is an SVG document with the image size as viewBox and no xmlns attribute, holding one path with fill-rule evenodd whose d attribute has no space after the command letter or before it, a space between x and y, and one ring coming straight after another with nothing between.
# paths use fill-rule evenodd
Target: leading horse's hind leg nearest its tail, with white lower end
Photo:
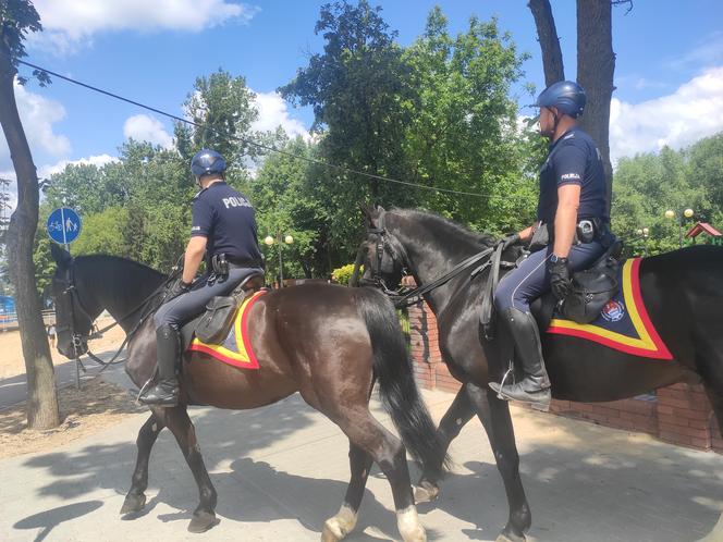
<instances>
[{"instance_id":1,"label":"leading horse's hind leg nearest its tail, with white lower end","mask_svg":"<svg viewBox=\"0 0 723 542\"><path fill-rule=\"evenodd\" d=\"M402 540L404 542L426 542L427 534L419 522L417 507L414 504L406 448L402 441L373 419L367 408L363 411L345 412L342 419L339 417L332 419L355 446L371 456L389 480L394 497L396 526ZM350 489L350 491L354 493L356 490ZM322 539L322 542L336 542L338 540L341 539L326 538Z\"/></svg>"}]
</instances>

